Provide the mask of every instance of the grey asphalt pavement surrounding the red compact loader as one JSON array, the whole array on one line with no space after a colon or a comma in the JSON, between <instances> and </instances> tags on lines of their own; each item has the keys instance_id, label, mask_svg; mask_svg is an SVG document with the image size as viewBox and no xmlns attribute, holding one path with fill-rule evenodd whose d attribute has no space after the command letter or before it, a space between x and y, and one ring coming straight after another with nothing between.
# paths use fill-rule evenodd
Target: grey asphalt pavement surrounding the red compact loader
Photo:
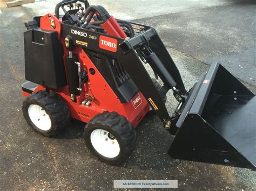
<instances>
[{"instance_id":1,"label":"grey asphalt pavement surrounding the red compact loader","mask_svg":"<svg viewBox=\"0 0 256 191\"><path fill-rule=\"evenodd\" d=\"M156 116L145 117L139 124L136 150L120 167L91 156L82 137L84 123L72 120L54 138L33 132L21 110L24 22L53 12L56 2L1 9L0 189L111 190L115 179L177 179L183 190L256 189L256 173L248 169L170 158L167 150L173 137ZM91 2L102 2L117 18L156 27L186 88L216 60L256 93L254 1ZM170 92L167 109L172 112L176 104Z\"/></svg>"}]
</instances>

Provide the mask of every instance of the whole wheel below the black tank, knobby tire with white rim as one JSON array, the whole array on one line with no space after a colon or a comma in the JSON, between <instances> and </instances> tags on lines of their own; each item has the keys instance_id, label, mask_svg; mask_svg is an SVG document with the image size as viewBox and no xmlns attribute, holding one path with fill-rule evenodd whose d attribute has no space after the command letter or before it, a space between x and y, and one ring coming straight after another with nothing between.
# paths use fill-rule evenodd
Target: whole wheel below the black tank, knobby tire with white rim
<instances>
[{"instance_id":1,"label":"whole wheel below the black tank, knobby tire with white rim","mask_svg":"<svg viewBox=\"0 0 256 191\"><path fill-rule=\"evenodd\" d=\"M46 90L27 97L22 110L29 126L46 137L55 135L70 121L69 109L62 97Z\"/></svg>"}]
</instances>

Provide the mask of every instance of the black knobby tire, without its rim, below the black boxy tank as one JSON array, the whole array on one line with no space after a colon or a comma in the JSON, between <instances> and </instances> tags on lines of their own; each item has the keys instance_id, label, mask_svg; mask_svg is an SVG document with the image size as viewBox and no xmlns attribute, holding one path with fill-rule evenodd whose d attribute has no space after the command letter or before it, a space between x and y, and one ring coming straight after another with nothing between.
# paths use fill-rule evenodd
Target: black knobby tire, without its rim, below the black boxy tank
<instances>
[{"instance_id":1,"label":"black knobby tire, without its rim, below the black boxy tank","mask_svg":"<svg viewBox=\"0 0 256 191\"><path fill-rule=\"evenodd\" d=\"M51 125L49 130L39 129L32 121L29 116L30 105L39 105L46 114L49 116ZM51 137L56 135L60 130L63 130L68 126L70 122L69 109L62 97L54 92L47 90L37 91L35 94L31 94L23 101L22 107L24 118L28 125L37 133ZM39 120L39 119L38 119Z\"/></svg>"}]
</instances>

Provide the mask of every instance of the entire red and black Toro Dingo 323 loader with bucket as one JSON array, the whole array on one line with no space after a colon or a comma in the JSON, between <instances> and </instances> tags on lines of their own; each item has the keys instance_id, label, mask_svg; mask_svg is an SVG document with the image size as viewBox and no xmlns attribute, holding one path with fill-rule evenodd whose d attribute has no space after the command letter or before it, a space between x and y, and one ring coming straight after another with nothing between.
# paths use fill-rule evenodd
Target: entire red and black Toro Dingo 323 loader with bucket
<instances>
[{"instance_id":1,"label":"entire red and black Toro Dingo 323 loader with bucket","mask_svg":"<svg viewBox=\"0 0 256 191\"><path fill-rule=\"evenodd\" d=\"M115 19L83 0L60 2L55 15L25 26L23 113L36 132L50 137L78 119L87 123L89 150L118 165L136 146L134 128L153 112L175 136L171 157L255 170L256 98L220 63L186 90L153 27ZM179 103L171 116L169 90Z\"/></svg>"}]
</instances>

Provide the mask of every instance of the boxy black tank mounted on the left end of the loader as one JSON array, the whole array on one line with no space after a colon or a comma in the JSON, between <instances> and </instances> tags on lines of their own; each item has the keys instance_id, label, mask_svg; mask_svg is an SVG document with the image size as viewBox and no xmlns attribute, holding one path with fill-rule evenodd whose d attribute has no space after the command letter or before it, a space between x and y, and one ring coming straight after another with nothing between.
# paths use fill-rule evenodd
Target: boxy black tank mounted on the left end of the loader
<instances>
[{"instance_id":1,"label":"boxy black tank mounted on the left end of the loader","mask_svg":"<svg viewBox=\"0 0 256 191\"><path fill-rule=\"evenodd\" d=\"M56 31L24 32L24 48L26 80L52 89L66 86L63 47Z\"/></svg>"}]
</instances>

